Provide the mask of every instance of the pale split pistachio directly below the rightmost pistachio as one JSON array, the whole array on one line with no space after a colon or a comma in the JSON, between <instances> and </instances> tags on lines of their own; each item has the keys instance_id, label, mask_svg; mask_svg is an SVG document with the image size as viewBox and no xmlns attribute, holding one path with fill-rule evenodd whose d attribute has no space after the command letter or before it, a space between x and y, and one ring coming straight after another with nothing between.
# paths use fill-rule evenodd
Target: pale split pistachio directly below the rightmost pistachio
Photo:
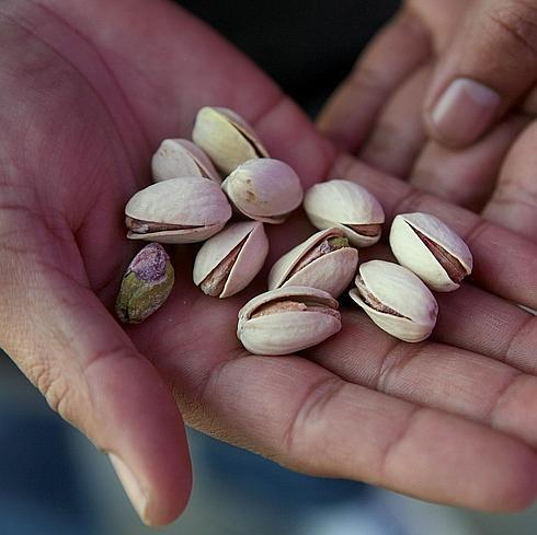
<instances>
[{"instance_id":1,"label":"pale split pistachio directly below the rightmost pistachio","mask_svg":"<svg viewBox=\"0 0 537 535\"><path fill-rule=\"evenodd\" d=\"M433 330L438 305L429 288L405 267L384 260L359 266L351 298L382 329L404 341Z\"/></svg>"}]
</instances>

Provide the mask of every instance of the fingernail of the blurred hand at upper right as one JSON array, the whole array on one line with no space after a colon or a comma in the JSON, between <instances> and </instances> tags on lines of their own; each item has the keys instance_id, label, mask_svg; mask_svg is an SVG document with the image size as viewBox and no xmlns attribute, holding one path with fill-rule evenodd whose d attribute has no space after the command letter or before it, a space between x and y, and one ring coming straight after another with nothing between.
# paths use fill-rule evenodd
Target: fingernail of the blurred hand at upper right
<instances>
[{"instance_id":1,"label":"fingernail of the blurred hand at upper right","mask_svg":"<svg viewBox=\"0 0 537 535\"><path fill-rule=\"evenodd\" d=\"M475 141L494 118L500 95L469 78L453 81L431 114L435 137L455 144Z\"/></svg>"}]
</instances>

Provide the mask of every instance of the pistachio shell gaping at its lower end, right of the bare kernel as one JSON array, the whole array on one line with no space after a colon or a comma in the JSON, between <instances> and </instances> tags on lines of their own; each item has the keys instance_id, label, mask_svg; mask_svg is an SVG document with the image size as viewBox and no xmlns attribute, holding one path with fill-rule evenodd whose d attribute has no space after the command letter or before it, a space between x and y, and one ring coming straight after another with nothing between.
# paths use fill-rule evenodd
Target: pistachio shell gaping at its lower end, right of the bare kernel
<instances>
[{"instance_id":1,"label":"pistachio shell gaping at its lower end, right of the bare kernel","mask_svg":"<svg viewBox=\"0 0 537 535\"><path fill-rule=\"evenodd\" d=\"M268 254L268 240L259 221L232 223L207 240L194 261L194 283L199 286L244 239L219 298L229 298L243 290L259 274Z\"/></svg>"}]
</instances>

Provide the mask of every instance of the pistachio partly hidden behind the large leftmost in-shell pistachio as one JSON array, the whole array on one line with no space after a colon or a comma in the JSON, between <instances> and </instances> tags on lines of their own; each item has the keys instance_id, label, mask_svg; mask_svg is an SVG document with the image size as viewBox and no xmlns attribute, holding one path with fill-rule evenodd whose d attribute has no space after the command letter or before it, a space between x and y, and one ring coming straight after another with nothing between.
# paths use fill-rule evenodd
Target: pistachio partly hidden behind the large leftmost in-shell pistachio
<instances>
[{"instance_id":1,"label":"pistachio partly hidden behind the large leftmost in-shell pistachio","mask_svg":"<svg viewBox=\"0 0 537 535\"><path fill-rule=\"evenodd\" d=\"M205 152L187 139L164 139L151 159L155 182L199 176L220 184L220 176Z\"/></svg>"}]
</instances>

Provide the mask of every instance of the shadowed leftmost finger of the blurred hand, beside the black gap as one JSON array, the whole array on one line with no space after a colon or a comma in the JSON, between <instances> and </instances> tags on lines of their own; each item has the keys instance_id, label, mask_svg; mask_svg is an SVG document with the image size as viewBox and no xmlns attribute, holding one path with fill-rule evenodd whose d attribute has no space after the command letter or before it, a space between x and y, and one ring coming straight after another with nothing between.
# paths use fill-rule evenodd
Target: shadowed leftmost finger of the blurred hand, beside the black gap
<instances>
[{"instance_id":1,"label":"shadowed leftmost finger of the blurred hand, beside the black gap","mask_svg":"<svg viewBox=\"0 0 537 535\"><path fill-rule=\"evenodd\" d=\"M341 149L354 152L367 137L392 91L430 56L429 32L403 9L374 38L347 79L321 111L318 127Z\"/></svg>"}]
</instances>

